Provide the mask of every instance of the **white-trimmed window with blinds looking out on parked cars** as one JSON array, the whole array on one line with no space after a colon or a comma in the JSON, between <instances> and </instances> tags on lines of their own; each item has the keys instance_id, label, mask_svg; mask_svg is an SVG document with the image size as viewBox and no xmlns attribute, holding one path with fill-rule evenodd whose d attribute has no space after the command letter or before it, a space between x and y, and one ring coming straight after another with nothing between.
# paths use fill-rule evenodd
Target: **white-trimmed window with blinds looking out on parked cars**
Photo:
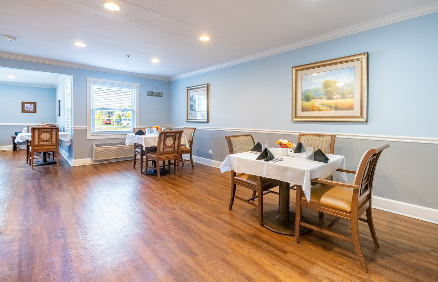
<instances>
[{"instance_id":1,"label":"white-trimmed window with blinds looking out on parked cars","mask_svg":"<svg viewBox=\"0 0 438 282\"><path fill-rule=\"evenodd\" d=\"M139 87L138 83L88 77L87 139L121 138L132 133L138 121Z\"/></svg>"}]
</instances>

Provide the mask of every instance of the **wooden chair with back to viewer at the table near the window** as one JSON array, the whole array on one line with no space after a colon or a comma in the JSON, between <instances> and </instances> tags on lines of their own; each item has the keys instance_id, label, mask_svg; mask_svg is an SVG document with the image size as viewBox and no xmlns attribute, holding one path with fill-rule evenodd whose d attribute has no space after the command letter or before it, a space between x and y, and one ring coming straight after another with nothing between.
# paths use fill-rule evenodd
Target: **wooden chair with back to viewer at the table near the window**
<instances>
[{"instance_id":1,"label":"wooden chair with back to viewer at the table near the window","mask_svg":"<svg viewBox=\"0 0 438 282\"><path fill-rule=\"evenodd\" d=\"M146 153L146 168L156 169L158 180L161 180L160 161L163 161L163 166L164 161L173 161L173 170L178 166L178 175L181 177L181 136L183 136L182 130L161 131L158 135L157 150L155 152ZM155 161L155 166L152 164L149 165L149 161Z\"/></svg>"}]
</instances>

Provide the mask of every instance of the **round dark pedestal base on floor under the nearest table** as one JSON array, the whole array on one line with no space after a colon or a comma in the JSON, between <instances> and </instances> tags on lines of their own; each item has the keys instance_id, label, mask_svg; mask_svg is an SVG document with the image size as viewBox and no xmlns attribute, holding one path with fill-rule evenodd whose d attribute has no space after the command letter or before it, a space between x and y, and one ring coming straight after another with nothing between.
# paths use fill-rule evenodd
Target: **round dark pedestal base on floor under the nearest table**
<instances>
[{"instance_id":1,"label":"round dark pedestal base on floor under the nearest table","mask_svg":"<svg viewBox=\"0 0 438 282\"><path fill-rule=\"evenodd\" d=\"M279 210L265 211L263 213L263 226L274 232L295 235L295 212L289 211L289 220L280 219ZM301 217L301 221L310 223L304 216ZM300 226L300 234L303 234L310 229L304 226Z\"/></svg>"}]
</instances>

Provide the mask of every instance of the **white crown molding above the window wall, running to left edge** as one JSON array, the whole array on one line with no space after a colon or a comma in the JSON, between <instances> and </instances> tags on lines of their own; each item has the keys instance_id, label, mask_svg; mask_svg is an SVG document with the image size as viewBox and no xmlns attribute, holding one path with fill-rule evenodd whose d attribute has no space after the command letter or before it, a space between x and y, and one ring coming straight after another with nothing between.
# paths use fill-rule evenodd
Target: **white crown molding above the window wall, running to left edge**
<instances>
[{"instance_id":1,"label":"white crown molding above the window wall, running to left edge","mask_svg":"<svg viewBox=\"0 0 438 282\"><path fill-rule=\"evenodd\" d=\"M113 69L109 69L109 68L99 68L99 67L89 66L86 64L77 64L77 63L58 61L58 60L52 60L52 59L46 59L46 58L40 58L40 57L32 57L32 56L13 54L13 53L7 53L7 52L0 52L0 57L7 58L7 59L21 60L21 61L29 61L29 62L34 62L34 63L53 64L53 65L57 65L57 66L61 66L61 67L81 68L81 69L85 69L85 70L89 70L89 71L102 71L102 72L112 73L115 75L128 75L128 76L141 77L144 79L156 79L156 80L170 81L170 79L168 77L164 77L164 76L145 75L145 74L129 72L129 71L118 71L118 70L113 70Z\"/></svg>"}]
</instances>

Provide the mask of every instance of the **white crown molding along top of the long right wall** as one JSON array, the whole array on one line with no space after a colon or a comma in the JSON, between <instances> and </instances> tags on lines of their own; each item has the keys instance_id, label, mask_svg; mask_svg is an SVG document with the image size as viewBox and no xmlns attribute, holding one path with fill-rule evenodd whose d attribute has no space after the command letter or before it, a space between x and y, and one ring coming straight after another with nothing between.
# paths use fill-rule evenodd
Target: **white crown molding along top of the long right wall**
<instances>
[{"instance_id":1,"label":"white crown molding along top of the long right wall","mask_svg":"<svg viewBox=\"0 0 438 282\"><path fill-rule=\"evenodd\" d=\"M351 34L354 34L357 32L362 32L362 31L369 30L369 29L375 29L375 28L378 28L378 27L381 27L384 25L390 25L390 24L393 24L393 23L396 23L399 21L405 21L405 20L408 20L411 18L417 18L417 17L423 16L426 14L431 14L431 13L437 12L437 11L438 11L438 2L435 2L432 4L427 4L427 5L417 7L417 8L411 9L411 10L407 10L407 11L392 14L392 15L389 15L386 17L378 18L378 19L375 19L372 21L366 21L366 22L358 24L358 25L352 25L352 26L347 27L345 29L338 29L336 31L325 33L325 34L322 34L320 36L314 36L314 37L304 39L304 40L301 40L301 41L298 41L295 43L291 43L288 45L277 47L277 48L267 50L264 52L260 52L257 54L253 54L250 56L242 57L242 58L239 58L237 60L228 61L228 62L225 62L222 64L216 64L216 65L208 67L208 68L202 68L202 69L197 70L197 71L187 72L187 73L182 74L182 75L176 75L176 76L171 77L170 81L177 80L177 79L183 79L183 78L193 76L193 75L199 75L201 73L205 73L208 71L214 71L214 70L217 70L220 68L230 67L230 66L235 65L235 64L241 64L244 62L261 59L263 57L268 57L268 56L272 56L275 54L298 49L301 47L309 46L312 44L321 43L321 42L328 41L331 39L336 39L339 37L351 35Z\"/></svg>"}]
</instances>

